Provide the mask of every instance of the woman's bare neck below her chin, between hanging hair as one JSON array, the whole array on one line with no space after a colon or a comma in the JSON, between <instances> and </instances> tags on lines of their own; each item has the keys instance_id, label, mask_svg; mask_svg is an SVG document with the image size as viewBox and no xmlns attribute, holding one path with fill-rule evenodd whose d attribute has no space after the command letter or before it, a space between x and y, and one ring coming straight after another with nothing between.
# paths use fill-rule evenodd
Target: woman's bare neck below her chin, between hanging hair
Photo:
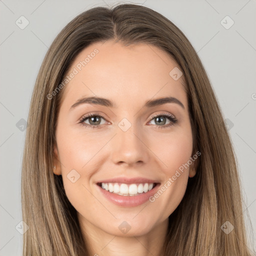
<instances>
[{"instance_id":1,"label":"woman's bare neck below her chin, between hanging hair","mask_svg":"<svg viewBox=\"0 0 256 256\"><path fill-rule=\"evenodd\" d=\"M168 218L149 232L140 235L117 236L102 230L78 214L89 255L92 256L162 256L167 235Z\"/></svg>"}]
</instances>

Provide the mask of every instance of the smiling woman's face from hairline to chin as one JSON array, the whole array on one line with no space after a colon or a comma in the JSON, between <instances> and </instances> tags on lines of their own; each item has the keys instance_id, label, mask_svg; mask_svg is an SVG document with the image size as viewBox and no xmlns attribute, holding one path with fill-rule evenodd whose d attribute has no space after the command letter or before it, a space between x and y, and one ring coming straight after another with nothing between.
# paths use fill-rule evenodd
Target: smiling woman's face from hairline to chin
<instances>
[{"instance_id":1,"label":"smiling woman's face from hairline to chin","mask_svg":"<svg viewBox=\"0 0 256 256\"><path fill-rule=\"evenodd\" d=\"M54 173L80 224L119 236L166 224L195 174L183 165L192 131L176 63L156 46L106 41L84 48L67 74Z\"/></svg>"}]
</instances>

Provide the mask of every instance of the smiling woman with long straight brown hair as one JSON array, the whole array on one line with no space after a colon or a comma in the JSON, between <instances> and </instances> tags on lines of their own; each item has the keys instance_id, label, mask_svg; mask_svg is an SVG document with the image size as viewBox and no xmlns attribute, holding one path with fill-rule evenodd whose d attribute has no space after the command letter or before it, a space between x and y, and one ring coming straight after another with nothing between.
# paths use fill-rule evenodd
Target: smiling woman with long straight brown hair
<instances>
[{"instance_id":1,"label":"smiling woman with long straight brown hair","mask_svg":"<svg viewBox=\"0 0 256 256\"><path fill-rule=\"evenodd\" d=\"M23 255L250 255L221 111L161 14L120 4L70 21L28 123Z\"/></svg>"}]
</instances>

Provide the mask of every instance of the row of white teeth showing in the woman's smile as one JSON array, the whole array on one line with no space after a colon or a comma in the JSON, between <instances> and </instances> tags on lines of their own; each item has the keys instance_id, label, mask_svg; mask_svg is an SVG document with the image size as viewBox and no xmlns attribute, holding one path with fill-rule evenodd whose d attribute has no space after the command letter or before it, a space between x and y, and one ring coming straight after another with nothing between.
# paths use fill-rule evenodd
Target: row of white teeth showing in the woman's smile
<instances>
[{"instance_id":1,"label":"row of white teeth showing in the woman's smile","mask_svg":"<svg viewBox=\"0 0 256 256\"><path fill-rule=\"evenodd\" d=\"M106 191L116 193L119 195L138 195L140 193L146 193L153 188L153 183L140 183L140 184L125 184L121 183L101 183L101 187Z\"/></svg>"}]
</instances>

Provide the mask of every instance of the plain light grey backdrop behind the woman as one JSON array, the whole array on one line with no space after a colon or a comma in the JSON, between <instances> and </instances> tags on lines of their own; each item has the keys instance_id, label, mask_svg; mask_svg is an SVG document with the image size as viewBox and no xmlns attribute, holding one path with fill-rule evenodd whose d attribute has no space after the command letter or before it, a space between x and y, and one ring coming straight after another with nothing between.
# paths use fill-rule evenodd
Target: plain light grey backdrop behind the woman
<instances>
[{"instance_id":1,"label":"plain light grey backdrop behind the woman","mask_svg":"<svg viewBox=\"0 0 256 256\"><path fill-rule=\"evenodd\" d=\"M239 164L244 212L248 212L255 232L256 1L132 2L169 18L198 52L229 125ZM0 0L0 255L21 255L22 235L15 227L21 221L24 125L42 59L57 33L73 17L88 8L112 3L116 1ZM15 23L21 23L21 15L29 21L24 29ZM234 21L229 29L221 24L226 15ZM228 19L222 22L231 24Z\"/></svg>"}]
</instances>

